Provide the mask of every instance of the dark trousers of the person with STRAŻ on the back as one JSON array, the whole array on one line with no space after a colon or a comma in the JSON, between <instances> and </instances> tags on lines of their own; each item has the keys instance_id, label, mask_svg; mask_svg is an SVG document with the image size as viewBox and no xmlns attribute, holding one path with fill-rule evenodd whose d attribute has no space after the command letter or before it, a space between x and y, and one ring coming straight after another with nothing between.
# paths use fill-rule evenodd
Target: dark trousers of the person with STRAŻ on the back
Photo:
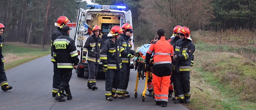
<instances>
[{"instance_id":1,"label":"dark trousers of the person with STRA\u017b on the back","mask_svg":"<svg viewBox=\"0 0 256 110\"><path fill-rule=\"evenodd\" d=\"M69 87L69 81L72 76L72 69L59 69L61 74L61 83L60 87L62 88L68 88Z\"/></svg>"}]
</instances>

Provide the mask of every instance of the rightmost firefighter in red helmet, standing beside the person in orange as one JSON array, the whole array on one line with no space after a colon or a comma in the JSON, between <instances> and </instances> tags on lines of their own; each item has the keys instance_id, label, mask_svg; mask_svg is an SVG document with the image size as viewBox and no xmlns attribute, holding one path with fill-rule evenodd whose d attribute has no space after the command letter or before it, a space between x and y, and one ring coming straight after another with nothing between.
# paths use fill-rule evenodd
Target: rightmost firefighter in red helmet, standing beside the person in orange
<instances>
[{"instance_id":1,"label":"rightmost firefighter in red helmet, standing beside the person in orange","mask_svg":"<svg viewBox=\"0 0 256 110\"><path fill-rule=\"evenodd\" d=\"M175 47L176 60L173 63L175 69L174 82L177 89L177 100L174 103L188 103L190 98L190 67L195 46L190 37L190 30L187 27L182 27L178 31L180 40L173 46Z\"/></svg>"}]
</instances>

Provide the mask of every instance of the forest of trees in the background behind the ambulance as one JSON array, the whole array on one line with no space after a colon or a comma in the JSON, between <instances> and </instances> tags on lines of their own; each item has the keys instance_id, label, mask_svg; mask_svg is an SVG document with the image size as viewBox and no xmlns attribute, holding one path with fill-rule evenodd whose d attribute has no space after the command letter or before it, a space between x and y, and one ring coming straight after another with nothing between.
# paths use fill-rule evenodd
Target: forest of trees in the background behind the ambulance
<instances>
[{"instance_id":1,"label":"forest of trees in the background behind the ambulance","mask_svg":"<svg viewBox=\"0 0 256 110\"><path fill-rule=\"evenodd\" d=\"M56 29L54 23L64 15L76 22L82 0L0 0L0 23L5 25L5 41L48 45ZM174 26L191 31L256 29L255 0L91 0L105 5L125 5L132 11L134 38L151 40L163 28L166 36ZM193 37L193 35L192 35ZM169 37L168 37L169 38Z\"/></svg>"}]
</instances>

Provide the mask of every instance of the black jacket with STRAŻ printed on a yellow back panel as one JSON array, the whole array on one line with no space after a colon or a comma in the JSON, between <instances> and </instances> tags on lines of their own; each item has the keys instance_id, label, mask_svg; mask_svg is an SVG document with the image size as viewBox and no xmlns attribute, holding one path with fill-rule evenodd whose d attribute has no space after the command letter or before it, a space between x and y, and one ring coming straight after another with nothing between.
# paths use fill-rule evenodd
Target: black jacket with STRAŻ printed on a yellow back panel
<instances>
[{"instance_id":1,"label":"black jacket with STRA\u017b printed on a yellow back panel","mask_svg":"<svg viewBox=\"0 0 256 110\"><path fill-rule=\"evenodd\" d=\"M77 48L68 33L62 33L53 42L53 56L59 69L73 69L79 63Z\"/></svg>"}]
</instances>

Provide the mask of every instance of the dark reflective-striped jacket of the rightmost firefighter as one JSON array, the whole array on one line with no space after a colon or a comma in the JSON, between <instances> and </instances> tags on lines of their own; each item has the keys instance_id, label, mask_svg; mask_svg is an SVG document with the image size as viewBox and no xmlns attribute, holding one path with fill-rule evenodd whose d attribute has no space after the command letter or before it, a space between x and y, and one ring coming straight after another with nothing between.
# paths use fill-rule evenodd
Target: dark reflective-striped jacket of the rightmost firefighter
<instances>
[{"instance_id":1,"label":"dark reflective-striped jacket of the rightmost firefighter","mask_svg":"<svg viewBox=\"0 0 256 110\"><path fill-rule=\"evenodd\" d=\"M173 63L173 69L179 72L190 72L191 59L195 52L195 45L187 39L178 40L173 47L175 48L174 55L177 55L176 61Z\"/></svg>"}]
</instances>

